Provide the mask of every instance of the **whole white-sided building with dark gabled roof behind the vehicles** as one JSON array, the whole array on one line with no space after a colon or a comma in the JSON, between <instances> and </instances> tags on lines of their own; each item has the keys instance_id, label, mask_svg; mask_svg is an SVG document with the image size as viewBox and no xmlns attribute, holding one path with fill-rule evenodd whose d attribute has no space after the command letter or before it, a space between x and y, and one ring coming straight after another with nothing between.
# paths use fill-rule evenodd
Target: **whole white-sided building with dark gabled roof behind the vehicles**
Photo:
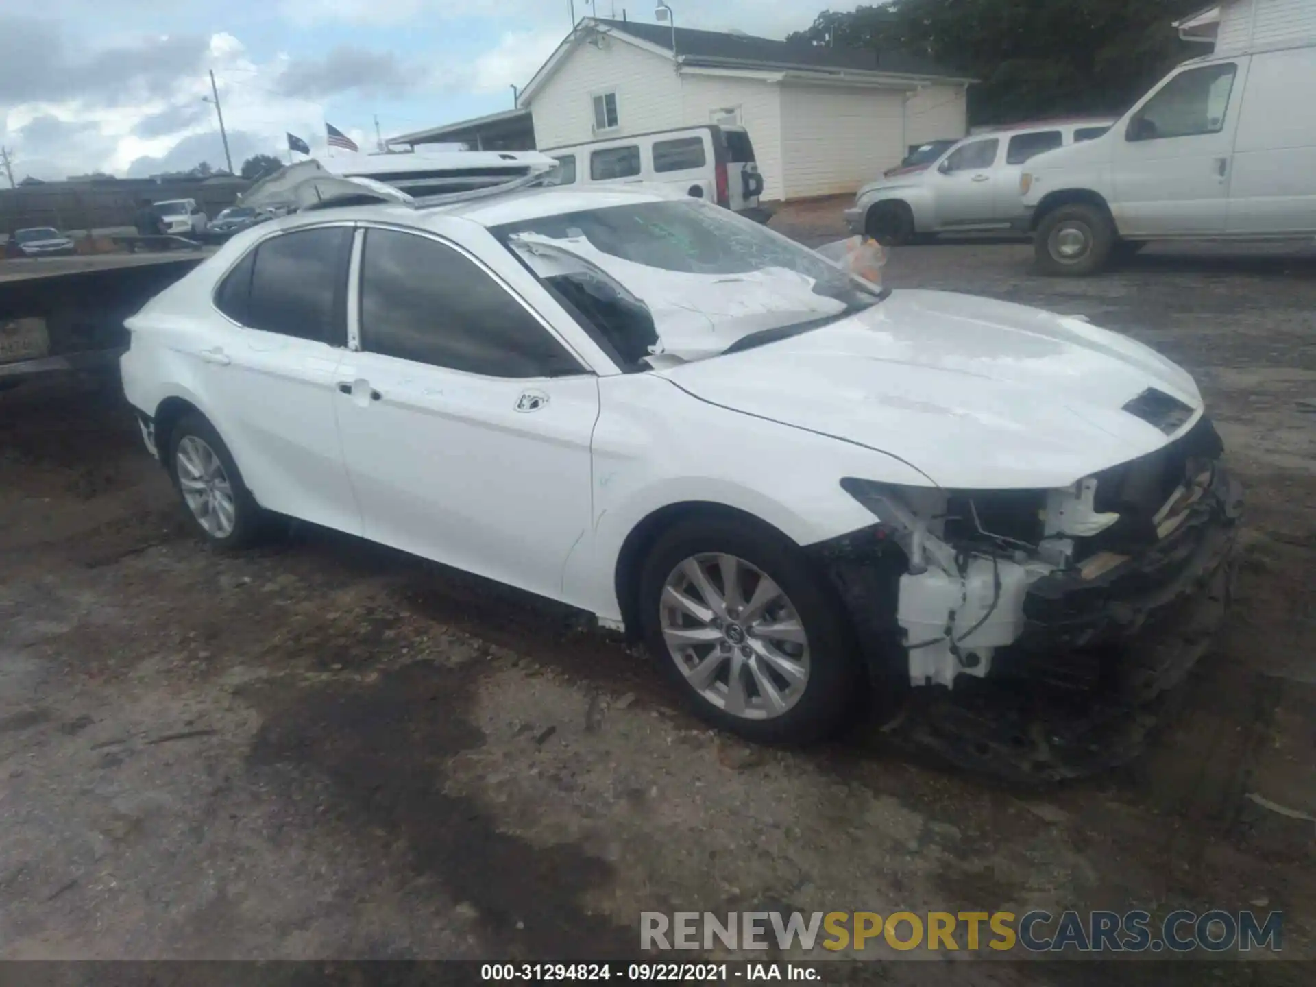
<instances>
[{"instance_id":1,"label":"whole white-sided building with dark gabled roof behind the vehicles","mask_svg":"<svg viewBox=\"0 0 1316 987\"><path fill-rule=\"evenodd\" d=\"M521 91L541 150L695 124L749 130L765 199L853 192L963 137L971 79L899 51L584 18Z\"/></svg>"}]
</instances>

